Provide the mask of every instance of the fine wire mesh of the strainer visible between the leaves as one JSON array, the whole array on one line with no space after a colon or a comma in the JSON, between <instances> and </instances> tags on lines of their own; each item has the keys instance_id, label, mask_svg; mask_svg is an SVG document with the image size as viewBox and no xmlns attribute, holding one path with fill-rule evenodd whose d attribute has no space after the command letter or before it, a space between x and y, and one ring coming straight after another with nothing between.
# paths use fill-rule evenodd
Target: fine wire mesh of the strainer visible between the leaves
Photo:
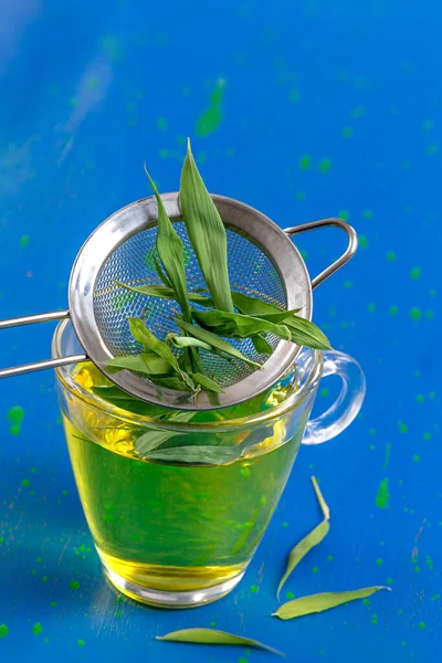
<instances>
[{"instance_id":1,"label":"fine wire mesh of the strainer visible between the leaves","mask_svg":"<svg viewBox=\"0 0 442 663\"><path fill-rule=\"evenodd\" d=\"M189 292L207 287L185 223L176 221L173 228L185 244ZM234 230L227 229L227 235L231 288L285 308L284 287L272 262L259 246ZM94 292L94 313L102 338L114 357L141 351L141 346L129 332L128 317L143 318L147 328L161 340L165 340L170 332L179 333L171 319L180 313L173 299L147 297L128 292L114 283L119 281L131 286L162 285L152 261L156 236L157 225L134 235L109 255L98 273ZM193 307L202 311L197 305ZM267 335L266 339L273 349L280 343L273 335ZM265 361L266 356L259 355L250 339L228 340L253 361ZM243 361L230 362L204 350L201 351L201 359L208 375L217 379L223 388L253 371L253 368L249 368Z\"/></svg>"}]
</instances>

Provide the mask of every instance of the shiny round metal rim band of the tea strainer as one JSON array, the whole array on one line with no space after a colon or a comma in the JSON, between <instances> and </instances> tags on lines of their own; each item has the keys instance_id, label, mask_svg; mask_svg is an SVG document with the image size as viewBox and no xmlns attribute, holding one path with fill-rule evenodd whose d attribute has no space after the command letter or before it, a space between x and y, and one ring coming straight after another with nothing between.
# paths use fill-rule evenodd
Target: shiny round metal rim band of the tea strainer
<instances>
[{"instance_id":1,"label":"shiny round metal rim band of the tea strainer","mask_svg":"<svg viewBox=\"0 0 442 663\"><path fill-rule=\"evenodd\" d=\"M211 194L225 225L242 233L250 234L254 243L270 257L275 269L280 272L280 278L285 291L287 309L303 306L299 315L312 319L312 284L306 265L287 234L256 209L224 196ZM179 220L181 212L179 208L178 192L161 196L169 218ZM157 203L155 197L143 198L120 210L117 210L101 223L83 244L71 272L69 285L69 307L75 334L91 360L99 367L104 375L125 391L146 400L150 403L170 408L187 410L213 409L206 393L198 396L198 402L191 401L188 396L183 397L180 391L158 387L148 380L144 380L128 370L110 373L104 362L110 359L104 343L94 312L94 288L102 265L106 259L133 235L157 224ZM256 219L260 223L256 223ZM282 262L272 260L272 255L284 251L288 260ZM291 260L293 259L293 260ZM302 282L301 291L305 297L299 302L296 294L286 287L291 283ZM262 368L246 376L242 380L227 388L224 393L219 394L217 408L233 406L243 402L253 396L265 391L274 385L293 365L301 347L281 340L271 357L263 364Z\"/></svg>"}]
</instances>

